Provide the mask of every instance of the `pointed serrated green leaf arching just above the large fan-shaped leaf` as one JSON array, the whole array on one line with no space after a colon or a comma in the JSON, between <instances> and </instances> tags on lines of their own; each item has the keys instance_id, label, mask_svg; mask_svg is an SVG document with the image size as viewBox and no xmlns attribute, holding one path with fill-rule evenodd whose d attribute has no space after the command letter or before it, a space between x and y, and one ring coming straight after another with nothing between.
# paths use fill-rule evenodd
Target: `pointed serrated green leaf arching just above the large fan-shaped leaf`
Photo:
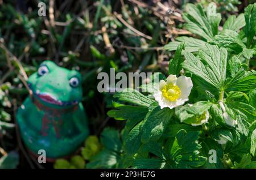
<instances>
[{"instance_id":1,"label":"pointed serrated green leaf arching just above the large fan-shaped leaf","mask_svg":"<svg viewBox=\"0 0 256 180\"><path fill-rule=\"evenodd\" d=\"M233 51L238 54L242 52L245 45L240 39L237 32L226 29L219 35L214 36L210 41L210 44L216 44L218 47L227 48L229 51Z\"/></svg>"}]
</instances>

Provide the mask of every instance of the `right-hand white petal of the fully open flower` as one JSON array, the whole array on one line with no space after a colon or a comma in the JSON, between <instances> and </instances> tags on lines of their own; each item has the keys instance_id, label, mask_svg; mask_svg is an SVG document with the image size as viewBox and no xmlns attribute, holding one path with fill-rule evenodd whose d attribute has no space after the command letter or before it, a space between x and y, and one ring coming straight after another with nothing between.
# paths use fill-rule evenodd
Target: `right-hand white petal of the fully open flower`
<instances>
[{"instance_id":1,"label":"right-hand white petal of the fully open flower","mask_svg":"<svg viewBox=\"0 0 256 180\"><path fill-rule=\"evenodd\" d=\"M193 87L191 78L188 78L186 76L180 76L179 78L177 78L177 86L180 88L181 91L180 98L188 98Z\"/></svg>"}]
</instances>

